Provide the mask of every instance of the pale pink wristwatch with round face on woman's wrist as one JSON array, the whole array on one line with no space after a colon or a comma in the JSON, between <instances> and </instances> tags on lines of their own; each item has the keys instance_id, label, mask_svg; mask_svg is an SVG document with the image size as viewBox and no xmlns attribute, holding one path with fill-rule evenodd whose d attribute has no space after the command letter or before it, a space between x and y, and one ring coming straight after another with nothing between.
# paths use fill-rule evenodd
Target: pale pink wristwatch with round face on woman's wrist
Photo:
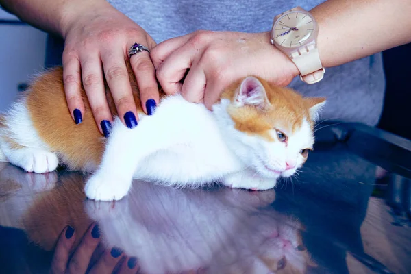
<instances>
[{"instance_id":1,"label":"pale pink wristwatch with round face on woman's wrist","mask_svg":"<svg viewBox=\"0 0 411 274\"><path fill-rule=\"evenodd\" d=\"M271 44L288 55L307 84L321 81L325 73L316 47L318 33L314 16L301 7L274 17Z\"/></svg>"}]
</instances>

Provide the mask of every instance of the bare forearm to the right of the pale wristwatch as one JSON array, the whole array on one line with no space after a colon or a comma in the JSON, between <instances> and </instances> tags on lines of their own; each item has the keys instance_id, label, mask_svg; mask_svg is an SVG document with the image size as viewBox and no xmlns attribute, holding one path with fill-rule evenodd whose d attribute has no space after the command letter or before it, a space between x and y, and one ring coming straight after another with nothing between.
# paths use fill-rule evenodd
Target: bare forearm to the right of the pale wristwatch
<instances>
[{"instance_id":1,"label":"bare forearm to the right of the pale wristwatch","mask_svg":"<svg viewBox=\"0 0 411 274\"><path fill-rule=\"evenodd\" d=\"M325 67L411 42L410 0L329 0L310 12Z\"/></svg>"}]
</instances>

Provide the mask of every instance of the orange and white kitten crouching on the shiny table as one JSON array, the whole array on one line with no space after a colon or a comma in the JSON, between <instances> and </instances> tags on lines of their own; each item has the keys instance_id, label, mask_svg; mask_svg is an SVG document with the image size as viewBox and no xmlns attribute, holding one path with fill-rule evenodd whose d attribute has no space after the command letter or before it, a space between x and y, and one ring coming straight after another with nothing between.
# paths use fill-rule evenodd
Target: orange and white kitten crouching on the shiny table
<instances>
[{"instance_id":1,"label":"orange and white kitten crouching on the shiny table","mask_svg":"<svg viewBox=\"0 0 411 274\"><path fill-rule=\"evenodd\" d=\"M212 112L181 95L162 94L155 113L147 116L127 66L140 117L137 127L128 129L116 118L109 138L103 138L84 90L84 121L75 125L66 105L62 68L56 67L36 77L1 117L0 160L35 173L53 171L59 164L90 172L86 196L108 201L127 195L132 179L266 190L279 177L293 175L312 149L324 98L303 98L249 76L229 86Z\"/></svg>"}]
</instances>

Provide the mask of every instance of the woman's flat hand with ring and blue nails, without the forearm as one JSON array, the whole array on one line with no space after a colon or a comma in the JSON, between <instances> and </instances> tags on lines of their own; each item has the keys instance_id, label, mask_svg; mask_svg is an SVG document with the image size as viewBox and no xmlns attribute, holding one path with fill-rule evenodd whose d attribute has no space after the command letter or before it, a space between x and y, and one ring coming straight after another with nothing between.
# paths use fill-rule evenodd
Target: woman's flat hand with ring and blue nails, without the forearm
<instances>
[{"instance_id":1,"label":"woman's flat hand with ring and blue nails, without the forearm","mask_svg":"<svg viewBox=\"0 0 411 274\"><path fill-rule=\"evenodd\" d=\"M63 76L67 103L75 122L81 123L84 113L80 93L83 84L97 126L105 134L110 127L108 123L112 123L112 114L103 79L107 80L121 121L127 127L135 127L138 114L125 62L128 50L135 42L150 50L155 42L144 29L110 4L97 3L71 10L62 23L65 40ZM142 107L147 113L146 101L154 99L158 103L159 97L153 63L147 51L132 55L130 63L138 82Z\"/></svg>"}]
</instances>

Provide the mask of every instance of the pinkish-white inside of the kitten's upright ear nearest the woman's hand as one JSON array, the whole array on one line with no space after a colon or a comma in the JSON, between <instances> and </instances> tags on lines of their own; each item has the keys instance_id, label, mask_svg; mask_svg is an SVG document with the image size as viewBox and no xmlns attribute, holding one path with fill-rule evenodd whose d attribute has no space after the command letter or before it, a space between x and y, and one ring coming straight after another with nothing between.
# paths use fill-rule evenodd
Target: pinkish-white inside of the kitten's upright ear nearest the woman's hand
<instances>
[{"instance_id":1,"label":"pinkish-white inside of the kitten's upright ear nearest the woman's hand","mask_svg":"<svg viewBox=\"0 0 411 274\"><path fill-rule=\"evenodd\" d=\"M259 79L253 76L246 77L242 80L236 90L234 105L242 107L252 105L260 110L267 110L271 103L266 95L266 90Z\"/></svg>"}]
</instances>

